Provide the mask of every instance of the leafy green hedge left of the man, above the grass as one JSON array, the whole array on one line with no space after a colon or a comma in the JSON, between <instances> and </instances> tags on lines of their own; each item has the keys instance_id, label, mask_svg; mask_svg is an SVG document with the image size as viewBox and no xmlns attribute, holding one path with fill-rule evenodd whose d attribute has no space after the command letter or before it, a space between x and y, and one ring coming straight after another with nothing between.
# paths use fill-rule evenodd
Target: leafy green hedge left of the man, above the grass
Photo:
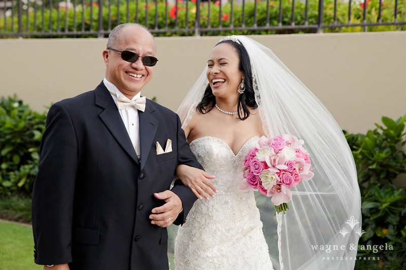
<instances>
[{"instance_id":1,"label":"leafy green hedge left of the man, above the grass","mask_svg":"<svg viewBox=\"0 0 406 270\"><path fill-rule=\"evenodd\" d=\"M0 196L31 194L45 120L15 96L0 99Z\"/></svg>"}]
</instances>

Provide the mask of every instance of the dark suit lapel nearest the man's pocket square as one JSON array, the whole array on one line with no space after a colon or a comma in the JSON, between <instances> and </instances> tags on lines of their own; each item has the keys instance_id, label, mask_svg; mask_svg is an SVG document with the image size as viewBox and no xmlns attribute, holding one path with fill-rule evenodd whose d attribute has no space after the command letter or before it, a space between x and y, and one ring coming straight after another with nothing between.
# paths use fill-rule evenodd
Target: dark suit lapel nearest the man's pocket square
<instances>
[{"instance_id":1,"label":"dark suit lapel nearest the man's pocket square","mask_svg":"<svg viewBox=\"0 0 406 270\"><path fill-rule=\"evenodd\" d=\"M141 144L141 170L144 168L151 147L154 147L153 140L158 128L158 120L152 115L153 104L148 102L145 111L138 111L140 120L140 144Z\"/></svg>"}]
</instances>

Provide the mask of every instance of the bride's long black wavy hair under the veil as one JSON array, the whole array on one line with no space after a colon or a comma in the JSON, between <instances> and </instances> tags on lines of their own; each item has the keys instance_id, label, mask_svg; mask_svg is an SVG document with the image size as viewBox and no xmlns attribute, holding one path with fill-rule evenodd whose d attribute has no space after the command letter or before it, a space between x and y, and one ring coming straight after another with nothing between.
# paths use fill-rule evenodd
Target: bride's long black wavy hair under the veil
<instances>
[{"instance_id":1,"label":"bride's long black wavy hair under the veil","mask_svg":"<svg viewBox=\"0 0 406 270\"><path fill-rule=\"evenodd\" d=\"M238 44L234 41L231 40L225 40L221 41L216 44L222 44L222 43L227 43L230 44L235 48L235 51L237 52L238 58L240 60L240 65L239 69L240 71L243 71L244 77L245 77L245 91L240 95L239 102L237 105L237 111L238 111L238 118L240 120L246 120L250 113L250 108L257 108L258 105L255 101L255 94L254 94L254 89L252 87L252 71L251 71L251 63L250 63L250 58L248 56L247 50L244 48L242 44ZM237 89L235 89L237 91ZM216 98L213 95L212 88L210 87L210 84L207 85L205 94L203 95L203 98L201 99L200 103L197 105L197 111L206 114L209 111L211 111L216 104ZM243 109L243 110L241 110ZM241 111L240 111L241 110Z\"/></svg>"}]
</instances>

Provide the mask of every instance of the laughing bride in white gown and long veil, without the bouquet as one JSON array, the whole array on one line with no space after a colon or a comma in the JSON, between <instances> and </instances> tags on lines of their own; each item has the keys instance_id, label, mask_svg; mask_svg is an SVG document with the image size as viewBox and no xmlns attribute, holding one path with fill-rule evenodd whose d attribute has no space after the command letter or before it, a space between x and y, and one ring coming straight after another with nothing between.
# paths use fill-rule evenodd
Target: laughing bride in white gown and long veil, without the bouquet
<instances>
[{"instance_id":1,"label":"laughing bride in white gown and long veil, without the bouquet","mask_svg":"<svg viewBox=\"0 0 406 270\"><path fill-rule=\"evenodd\" d=\"M347 221L360 227L351 151L325 107L268 48L246 36L223 38L178 114L206 173L178 167L177 176L206 201L198 200L178 229L177 269L354 267L359 237L340 234ZM266 210L272 209L270 200L260 214L253 190L239 190L237 179L260 136L283 134L304 140L315 176L291 189L290 210L278 218L276 245L266 243L261 222L274 226L276 218L269 217L275 210ZM216 178L208 180L207 173ZM327 245L337 248L326 253Z\"/></svg>"}]
</instances>

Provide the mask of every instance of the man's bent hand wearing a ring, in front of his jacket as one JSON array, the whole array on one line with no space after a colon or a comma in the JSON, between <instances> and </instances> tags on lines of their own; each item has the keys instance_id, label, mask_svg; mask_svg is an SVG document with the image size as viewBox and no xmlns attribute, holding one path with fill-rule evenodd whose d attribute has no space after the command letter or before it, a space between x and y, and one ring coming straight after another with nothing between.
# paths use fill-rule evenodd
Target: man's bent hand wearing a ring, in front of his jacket
<instances>
[{"instance_id":1,"label":"man's bent hand wearing a ring, in front of his jacket","mask_svg":"<svg viewBox=\"0 0 406 270\"><path fill-rule=\"evenodd\" d=\"M158 200L164 200L165 204L152 209L153 214L149 216L152 219L151 224L167 227L175 221L182 211L182 201L171 190L154 193L154 196Z\"/></svg>"}]
</instances>

